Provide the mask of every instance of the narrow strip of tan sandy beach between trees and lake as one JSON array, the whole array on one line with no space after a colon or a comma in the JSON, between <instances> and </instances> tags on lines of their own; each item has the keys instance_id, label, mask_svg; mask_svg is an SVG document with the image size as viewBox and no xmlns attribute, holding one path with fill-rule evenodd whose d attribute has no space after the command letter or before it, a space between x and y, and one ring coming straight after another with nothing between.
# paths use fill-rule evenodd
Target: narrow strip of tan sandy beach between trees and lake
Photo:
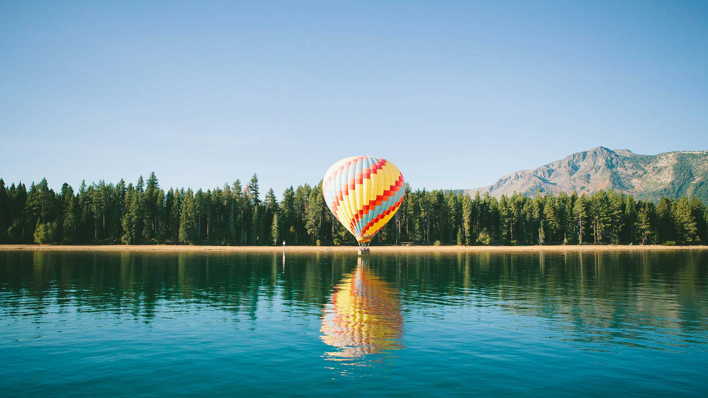
<instances>
[{"instance_id":1,"label":"narrow strip of tan sandy beach between trees and lake","mask_svg":"<svg viewBox=\"0 0 708 398\"><path fill-rule=\"evenodd\" d=\"M189 245L0 245L0 251L16 250L110 250L131 252L282 252L282 246L189 246ZM372 246L372 252L539 252L539 251L612 251L612 250L708 250L708 246L659 245L548 245L548 246ZM355 252L355 246L286 246L286 252Z\"/></svg>"}]
</instances>

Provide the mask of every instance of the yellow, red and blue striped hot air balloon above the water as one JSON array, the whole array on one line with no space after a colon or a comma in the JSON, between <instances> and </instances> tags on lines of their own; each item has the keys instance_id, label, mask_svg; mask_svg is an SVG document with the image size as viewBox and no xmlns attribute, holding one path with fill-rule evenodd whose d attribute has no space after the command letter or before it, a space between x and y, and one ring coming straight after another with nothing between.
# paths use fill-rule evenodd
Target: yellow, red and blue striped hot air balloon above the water
<instances>
[{"instance_id":1,"label":"yellow, red and blue striped hot air balloon above the water","mask_svg":"<svg viewBox=\"0 0 708 398\"><path fill-rule=\"evenodd\" d=\"M401 171L388 160L353 156L327 170L322 192L334 216L359 242L361 253L401 206L405 185Z\"/></svg>"}]
</instances>

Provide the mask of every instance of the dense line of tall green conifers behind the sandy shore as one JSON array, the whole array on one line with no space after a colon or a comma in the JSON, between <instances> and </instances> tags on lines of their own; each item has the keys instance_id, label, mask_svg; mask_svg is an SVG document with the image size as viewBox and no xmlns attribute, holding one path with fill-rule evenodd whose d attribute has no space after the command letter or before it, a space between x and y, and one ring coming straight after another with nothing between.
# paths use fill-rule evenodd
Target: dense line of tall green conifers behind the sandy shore
<instances>
[{"instance_id":1,"label":"dense line of tall green conifers behind the sandy shore","mask_svg":"<svg viewBox=\"0 0 708 398\"><path fill-rule=\"evenodd\" d=\"M448 190L411 190L373 244L434 245L701 244L708 209L695 196L654 201L621 192L538 192L500 199ZM168 242L196 245L354 245L322 197L322 182L289 187L281 200L258 177L203 191L159 186L154 172L134 184L42 179L8 188L0 178L0 243Z\"/></svg>"}]
</instances>

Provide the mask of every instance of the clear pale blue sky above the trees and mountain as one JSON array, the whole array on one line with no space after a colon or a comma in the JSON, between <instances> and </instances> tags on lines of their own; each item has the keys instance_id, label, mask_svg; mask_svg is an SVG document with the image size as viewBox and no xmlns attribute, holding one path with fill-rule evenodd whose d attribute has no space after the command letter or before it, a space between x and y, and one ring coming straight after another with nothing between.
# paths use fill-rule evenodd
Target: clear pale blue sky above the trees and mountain
<instances>
[{"instance_id":1,"label":"clear pale blue sky above the trees and mountain","mask_svg":"<svg viewBox=\"0 0 708 398\"><path fill-rule=\"evenodd\" d=\"M595 146L708 149L707 1L0 4L0 176L472 188ZM307 4L304 4L307 3Z\"/></svg>"}]
</instances>

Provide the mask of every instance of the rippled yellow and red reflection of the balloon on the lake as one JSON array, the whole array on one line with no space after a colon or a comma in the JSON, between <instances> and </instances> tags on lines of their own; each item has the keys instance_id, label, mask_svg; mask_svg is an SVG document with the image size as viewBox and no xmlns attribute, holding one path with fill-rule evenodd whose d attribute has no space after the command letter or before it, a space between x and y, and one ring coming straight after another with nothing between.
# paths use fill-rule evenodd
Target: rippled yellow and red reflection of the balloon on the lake
<instances>
[{"instance_id":1,"label":"rippled yellow and red reflection of the balloon on the lake","mask_svg":"<svg viewBox=\"0 0 708 398\"><path fill-rule=\"evenodd\" d=\"M338 351L332 361L403 348L399 291L359 259L358 267L334 288L322 315L321 339Z\"/></svg>"}]
</instances>

